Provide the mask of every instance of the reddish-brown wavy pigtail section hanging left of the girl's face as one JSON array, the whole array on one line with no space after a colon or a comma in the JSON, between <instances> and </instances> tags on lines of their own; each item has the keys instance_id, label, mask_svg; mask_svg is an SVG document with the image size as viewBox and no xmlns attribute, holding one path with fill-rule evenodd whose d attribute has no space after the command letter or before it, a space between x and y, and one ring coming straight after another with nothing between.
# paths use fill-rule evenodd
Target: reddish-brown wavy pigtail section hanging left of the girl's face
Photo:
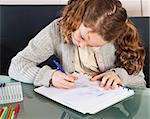
<instances>
[{"instance_id":1,"label":"reddish-brown wavy pigtail section hanging left of the girl's face","mask_svg":"<svg viewBox=\"0 0 150 119\"><path fill-rule=\"evenodd\" d=\"M65 42L71 41L71 33L77 30L83 21L84 13L88 6L88 0L69 0L63 10L59 25L63 28Z\"/></svg>"}]
</instances>

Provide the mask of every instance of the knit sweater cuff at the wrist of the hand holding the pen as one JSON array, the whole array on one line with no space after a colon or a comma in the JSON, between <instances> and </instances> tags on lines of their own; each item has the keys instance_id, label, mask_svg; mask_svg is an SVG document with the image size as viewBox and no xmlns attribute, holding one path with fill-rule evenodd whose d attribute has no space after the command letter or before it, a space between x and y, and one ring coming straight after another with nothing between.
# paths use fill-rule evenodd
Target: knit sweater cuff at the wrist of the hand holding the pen
<instances>
[{"instance_id":1,"label":"knit sweater cuff at the wrist of the hand holding the pen","mask_svg":"<svg viewBox=\"0 0 150 119\"><path fill-rule=\"evenodd\" d=\"M52 78L53 73L57 69L51 69L49 66L43 66L40 71L38 72L34 85L35 86L49 86L49 80Z\"/></svg>"}]
</instances>

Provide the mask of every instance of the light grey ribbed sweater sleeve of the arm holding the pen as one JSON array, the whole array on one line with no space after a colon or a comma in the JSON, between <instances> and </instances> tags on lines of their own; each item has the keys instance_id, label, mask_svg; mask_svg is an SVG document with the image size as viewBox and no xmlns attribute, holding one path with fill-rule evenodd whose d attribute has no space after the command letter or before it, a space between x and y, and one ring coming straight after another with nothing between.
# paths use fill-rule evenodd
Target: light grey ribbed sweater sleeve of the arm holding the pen
<instances>
[{"instance_id":1,"label":"light grey ribbed sweater sleeve of the arm holding the pen","mask_svg":"<svg viewBox=\"0 0 150 119\"><path fill-rule=\"evenodd\" d=\"M11 78L33 83L36 86L49 85L49 79L55 70L47 65L42 68L37 65L54 54L54 45L58 42L57 27L57 20L54 20L31 39L26 48L12 58L8 70Z\"/></svg>"}]
</instances>

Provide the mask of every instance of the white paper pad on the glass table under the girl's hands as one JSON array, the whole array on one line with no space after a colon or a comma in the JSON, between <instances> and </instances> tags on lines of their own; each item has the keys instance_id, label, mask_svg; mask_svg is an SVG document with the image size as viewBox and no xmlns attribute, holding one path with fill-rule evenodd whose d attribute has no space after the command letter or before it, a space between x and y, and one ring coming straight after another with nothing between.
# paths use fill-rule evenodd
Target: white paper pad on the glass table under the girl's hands
<instances>
[{"instance_id":1,"label":"white paper pad on the glass table under the girl's hands","mask_svg":"<svg viewBox=\"0 0 150 119\"><path fill-rule=\"evenodd\" d=\"M95 114L134 95L131 89L118 87L115 90L104 90L99 87L99 81L90 81L87 75L76 72L73 75L77 76L78 80L71 89L42 86L34 91L83 114Z\"/></svg>"}]
</instances>

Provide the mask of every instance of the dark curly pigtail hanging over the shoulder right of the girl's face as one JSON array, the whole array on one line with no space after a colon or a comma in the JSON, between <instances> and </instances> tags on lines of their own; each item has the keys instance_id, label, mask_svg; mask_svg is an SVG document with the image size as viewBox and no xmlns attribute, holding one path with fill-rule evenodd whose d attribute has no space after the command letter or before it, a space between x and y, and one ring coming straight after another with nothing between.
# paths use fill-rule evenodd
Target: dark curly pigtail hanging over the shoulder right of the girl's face
<instances>
[{"instance_id":1,"label":"dark curly pigtail hanging over the shoulder right of the girl's face","mask_svg":"<svg viewBox=\"0 0 150 119\"><path fill-rule=\"evenodd\" d=\"M126 22L126 30L116 39L116 66L125 68L129 74L139 73L144 66L145 51L140 36L131 20Z\"/></svg>"}]
</instances>

